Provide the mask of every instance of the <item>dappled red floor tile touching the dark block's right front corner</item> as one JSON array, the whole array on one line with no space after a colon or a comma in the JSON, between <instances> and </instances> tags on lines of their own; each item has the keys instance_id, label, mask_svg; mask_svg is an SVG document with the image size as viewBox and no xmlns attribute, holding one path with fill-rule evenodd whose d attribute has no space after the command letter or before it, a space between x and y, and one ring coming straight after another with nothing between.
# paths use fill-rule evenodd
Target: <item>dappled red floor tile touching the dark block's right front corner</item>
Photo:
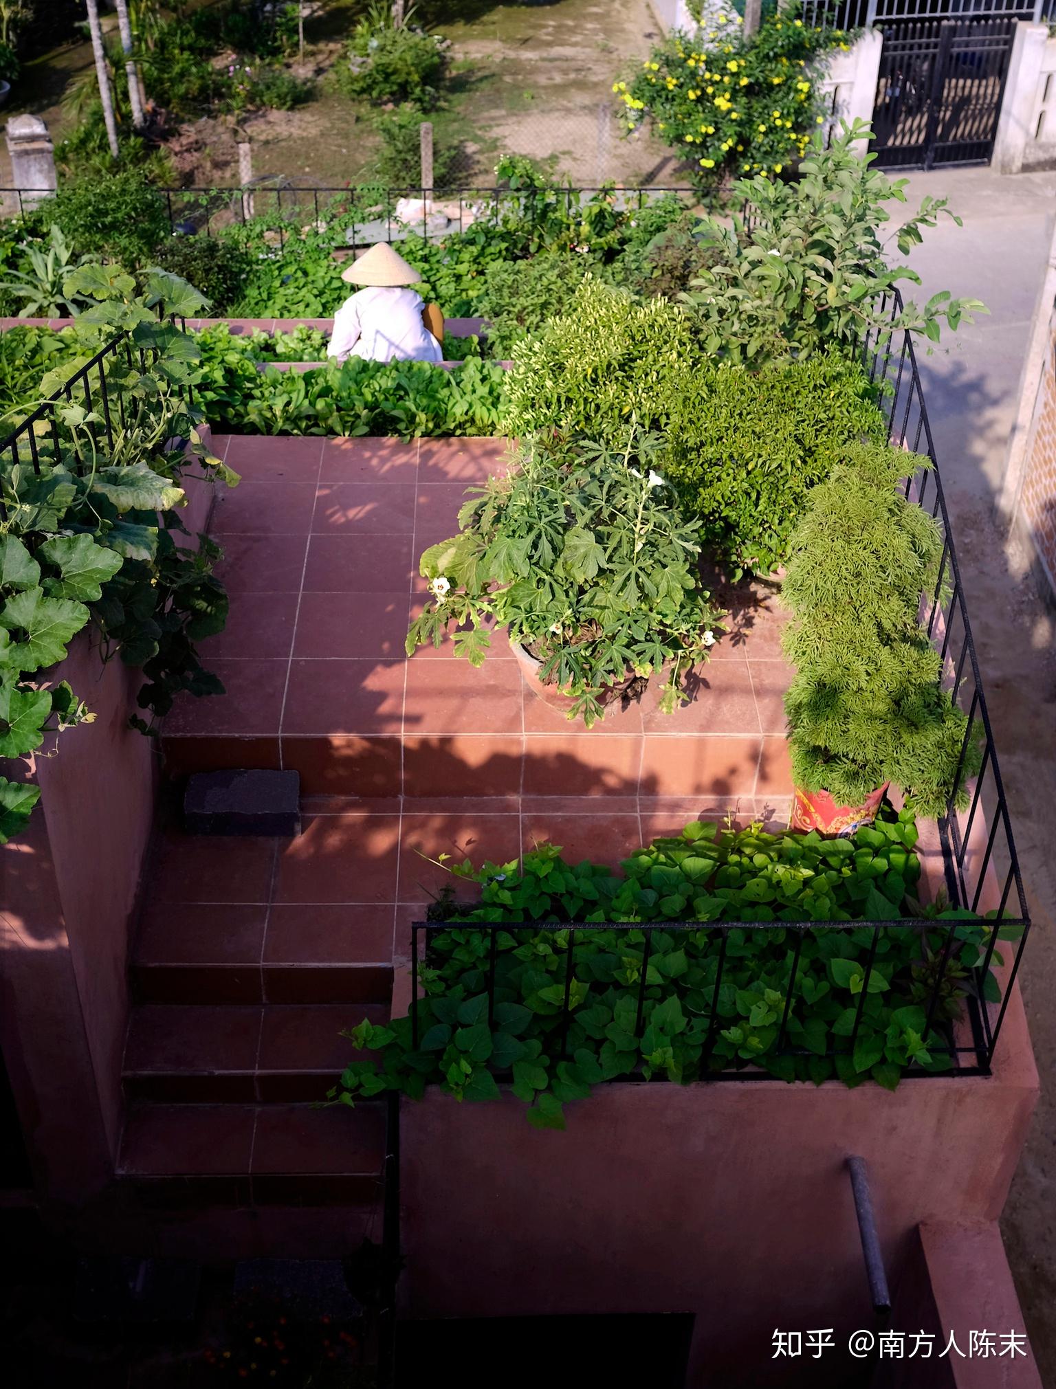
<instances>
[{"instance_id":1,"label":"dappled red floor tile touching the dark block's right front corner","mask_svg":"<svg viewBox=\"0 0 1056 1389\"><path fill-rule=\"evenodd\" d=\"M278 864L275 901L395 901L399 815L306 821Z\"/></svg>"}]
</instances>

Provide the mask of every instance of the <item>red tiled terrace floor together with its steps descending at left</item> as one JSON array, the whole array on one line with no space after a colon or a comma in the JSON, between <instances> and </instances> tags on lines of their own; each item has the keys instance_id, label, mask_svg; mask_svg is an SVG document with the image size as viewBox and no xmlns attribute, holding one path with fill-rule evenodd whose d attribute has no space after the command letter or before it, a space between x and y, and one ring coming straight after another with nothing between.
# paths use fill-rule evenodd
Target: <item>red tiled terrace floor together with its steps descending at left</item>
<instances>
[{"instance_id":1,"label":"red tiled terrace floor together with its steps descending at left","mask_svg":"<svg viewBox=\"0 0 1056 1389\"><path fill-rule=\"evenodd\" d=\"M154 1207L263 1213L379 1197L383 1114L313 1108L388 1017L410 922L460 861L534 843L618 860L698 815L786 815L781 615L736 614L674 725L642 704L588 735L525 686L509 644L479 671L407 660L417 554L457 529L500 439L214 439L242 485L218 503L226 694L165 721L174 786L199 771L296 771L292 840L167 831L132 958L119 1175ZM675 733L678 736L673 736ZM171 817L175 822L178 815ZM465 885L463 885L463 889ZM400 1004L400 1010L403 1004Z\"/></svg>"}]
</instances>

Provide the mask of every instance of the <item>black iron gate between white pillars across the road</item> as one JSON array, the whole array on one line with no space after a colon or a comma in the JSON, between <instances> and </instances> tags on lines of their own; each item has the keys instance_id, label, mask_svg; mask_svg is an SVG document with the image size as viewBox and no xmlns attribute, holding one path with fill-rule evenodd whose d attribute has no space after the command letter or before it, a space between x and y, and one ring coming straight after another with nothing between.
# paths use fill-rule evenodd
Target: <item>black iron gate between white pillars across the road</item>
<instances>
[{"instance_id":1,"label":"black iron gate between white pillars across the road","mask_svg":"<svg viewBox=\"0 0 1056 1389\"><path fill-rule=\"evenodd\" d=\"M877 164L987 164L1014 32L1014 19L886 24L873 113Z\"/></svg>"}]
</instances>

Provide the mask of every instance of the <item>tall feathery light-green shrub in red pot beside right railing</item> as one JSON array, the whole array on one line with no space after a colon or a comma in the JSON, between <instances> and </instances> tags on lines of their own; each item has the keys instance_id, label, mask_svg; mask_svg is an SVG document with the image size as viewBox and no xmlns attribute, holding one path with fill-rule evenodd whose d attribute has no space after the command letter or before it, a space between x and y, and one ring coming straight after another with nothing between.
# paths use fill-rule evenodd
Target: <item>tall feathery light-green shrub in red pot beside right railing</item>
<instances>
[{"instance_id":1,"label":"tall feathery light-green shrub in red pot beside right railing","mask_svg":"<svg viewBox=\"0 0 1056 1389\"><path fill-rule=\"evenodd\" d=\"M792 538L782 601L793 621L785 696L798 829L850 833L888 783L925 815L945 813L962 779L966 715L942 688L942 663L920 625L939 579L942 533L898 488L928 461L857 443L810 493ZM960 786L956 788L956 793Z\"/></svg>"}]
</instances>

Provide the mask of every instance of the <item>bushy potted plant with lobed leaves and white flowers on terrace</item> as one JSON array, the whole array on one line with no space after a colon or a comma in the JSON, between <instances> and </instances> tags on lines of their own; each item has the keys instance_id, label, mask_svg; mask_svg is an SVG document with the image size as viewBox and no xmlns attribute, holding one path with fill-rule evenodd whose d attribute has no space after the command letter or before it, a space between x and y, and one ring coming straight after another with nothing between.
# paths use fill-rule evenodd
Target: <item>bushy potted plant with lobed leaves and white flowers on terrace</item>
<instances>
[{"instance_id":1,"label":"bushy potted plant with lobed leaves and white flowers on terrace","mask_svg":"<svg viewBox=\"0 0 1056 1389\"><path fill-rule=\"evenodd\" d=\"M699 582L696 531L649 467L659 446L634 426L618 453L536 442L509 476L471 489L460 533L421 558L429 599L407 654L450 635L456 654L481 665L496 625L588 728L661 671L660 708L673 713L721 614Z\"/></svg>"}]
</instances>

